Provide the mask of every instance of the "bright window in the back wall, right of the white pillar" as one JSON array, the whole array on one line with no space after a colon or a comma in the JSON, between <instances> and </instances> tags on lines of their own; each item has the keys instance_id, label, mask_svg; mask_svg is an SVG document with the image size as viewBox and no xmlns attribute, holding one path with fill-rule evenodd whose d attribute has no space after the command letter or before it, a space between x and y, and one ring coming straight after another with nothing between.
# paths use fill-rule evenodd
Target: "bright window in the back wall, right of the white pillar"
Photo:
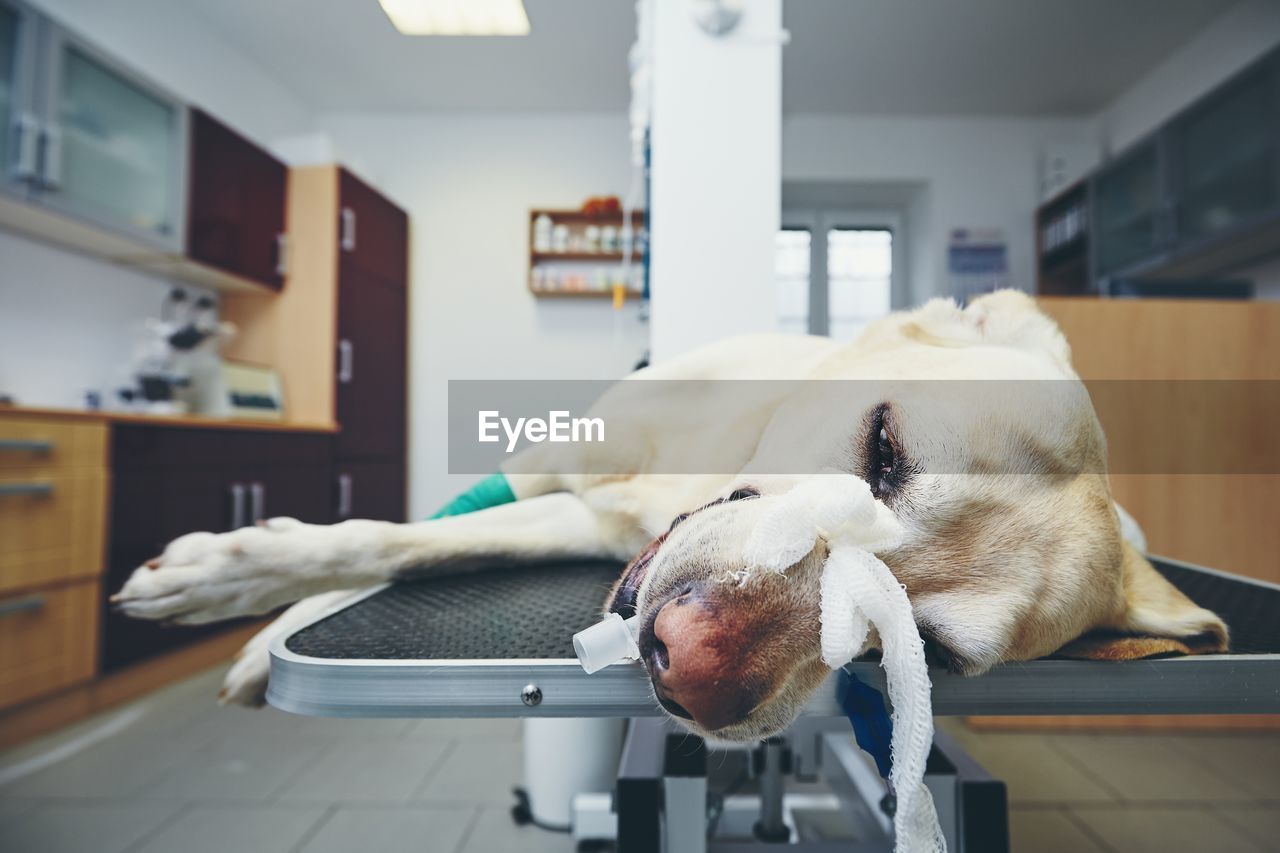
<instances>
[{"instance_id":1,"label":"bright window in the back wall, right of the white pillar","mask_svg":"<svg viewBox=\"0 0 1280 853\"><path fill-rule=\"evenodd\" d=\"M777 236L780 332L852 341L892 310L895 216L788 213Z\"/></svg>"}]
</instances>

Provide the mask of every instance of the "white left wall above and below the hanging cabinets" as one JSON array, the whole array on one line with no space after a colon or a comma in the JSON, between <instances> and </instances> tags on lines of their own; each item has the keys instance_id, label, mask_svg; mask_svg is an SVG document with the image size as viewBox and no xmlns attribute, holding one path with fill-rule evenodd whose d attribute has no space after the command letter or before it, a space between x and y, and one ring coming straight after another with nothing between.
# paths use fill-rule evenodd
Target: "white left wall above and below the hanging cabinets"
<instances>
[{"instance_id":1,"label":"white left wall above and below the hanging cabinets","mask_svg":"<svg viewBox=\"0 0 1280 853\"><path fill-rule=\"evenodd\" d=\"M211 27L165 0L36 0L59 23L266 145L311 127L301 100ZM0 232L0 393L79 406L115 387L132 330L166 283Z\"/></svg>"}]
</instances>

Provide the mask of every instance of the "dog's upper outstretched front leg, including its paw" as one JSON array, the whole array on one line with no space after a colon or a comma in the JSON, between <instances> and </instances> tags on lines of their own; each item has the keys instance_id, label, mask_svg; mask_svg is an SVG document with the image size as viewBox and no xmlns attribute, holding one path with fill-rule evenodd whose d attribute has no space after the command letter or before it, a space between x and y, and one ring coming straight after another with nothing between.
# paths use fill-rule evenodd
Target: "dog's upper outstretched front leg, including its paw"
<instances>
[{"instance_id":1,"label":"dog's upper outstretched front leg, including its paw","mask_svg":"<svg viewBox=\"0 0 1280 853\"><path fill-rule=\"evenodd\" d=\"M417 524L271 519L175 539L137 569L111 603L137 619L195 625L431 571L607 556L623 555L596 515L568 493Z\"/></svg>"}]
</instances>

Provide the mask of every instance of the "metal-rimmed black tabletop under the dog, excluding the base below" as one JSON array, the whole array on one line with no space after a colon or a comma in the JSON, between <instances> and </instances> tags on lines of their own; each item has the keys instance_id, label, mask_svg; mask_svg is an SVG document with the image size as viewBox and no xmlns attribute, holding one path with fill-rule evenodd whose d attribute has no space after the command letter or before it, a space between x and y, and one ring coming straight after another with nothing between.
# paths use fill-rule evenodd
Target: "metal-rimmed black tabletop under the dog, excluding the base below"
<instances>
[{"instance_id":1,"label":"metal-rimmed black tabletop under the dog, excluding the base below","mask_svg":"<svg viewBox=\"0 0 1280 853\"><path fill-rule=\"evenodd\" d=\"M934 670L934 715L1280 713L1280 587L1152 562L1226 621L1231 653ZM573 564L375 588L275 642L268 701L339 717L659 716L639 663L586 675L573 657L572 634L599 619L618 574ZM849 669L883 689L878 662ZM841 716L833 684L809 713Z\"/></svg>"}]
</instances>

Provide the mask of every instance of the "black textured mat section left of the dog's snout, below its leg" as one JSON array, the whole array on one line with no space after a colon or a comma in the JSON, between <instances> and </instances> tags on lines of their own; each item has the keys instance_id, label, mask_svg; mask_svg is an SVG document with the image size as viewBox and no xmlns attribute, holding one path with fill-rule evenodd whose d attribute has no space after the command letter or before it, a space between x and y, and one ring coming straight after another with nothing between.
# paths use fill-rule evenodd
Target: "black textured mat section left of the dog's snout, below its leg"
<instances>
[{"instance_id":1,"label":"black textured mat section left of the dog's snout, below its leg","mask_svg":"<svg viewBox=\"0 0 1280 853\"><path fill-rule=\"evenodd\" d=\"M380 661L561 660L600 619L622 564L476 571L396 584L303 628L307 657Z\"/></svg>"}]
</instances>

